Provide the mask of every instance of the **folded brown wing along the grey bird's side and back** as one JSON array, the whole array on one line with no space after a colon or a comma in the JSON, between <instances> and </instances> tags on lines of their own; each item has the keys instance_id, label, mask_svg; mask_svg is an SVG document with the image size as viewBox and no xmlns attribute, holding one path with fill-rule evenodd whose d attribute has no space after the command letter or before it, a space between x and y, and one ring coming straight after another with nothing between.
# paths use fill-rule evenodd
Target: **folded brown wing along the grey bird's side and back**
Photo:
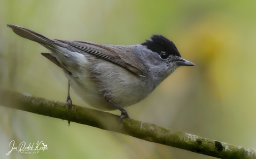
<instances>
[{"instance_id":1,"label":"folded brown wing along the grey bird's side and back","mask_svg":"<svg viewBox=\"0 0 256 159\"><path fill-rule=\"evenodd\" d=\"M134 56L131 56L131 50L129 50L129 46L116 46L114 49L113 46L107 44L83 41L57 41L66 43L83 52L90 53L93 56L115 63L121 67L128 69L133 73L142 76L146 75L145 68L139 61L139 59L136 59Z\"/></svg>"}]
</instances>

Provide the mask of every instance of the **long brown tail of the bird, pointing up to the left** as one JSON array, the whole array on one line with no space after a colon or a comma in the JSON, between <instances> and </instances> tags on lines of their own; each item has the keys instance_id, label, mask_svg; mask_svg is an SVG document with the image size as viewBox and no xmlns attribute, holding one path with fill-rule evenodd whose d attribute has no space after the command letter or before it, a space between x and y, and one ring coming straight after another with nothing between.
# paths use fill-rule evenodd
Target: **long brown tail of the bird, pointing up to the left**
<instances>
[{"instance_id":1,"label":"long brown tail of the bird, pointing up to the left","mask_svg":"<svg viewBox=\"0 0 256 159\"><path fill-rule=\"evenodd\" d=\"M47 38L43 36L42 34L38 34L34 31L31 31L29 29L23 28L21 26L17 26L15 24L7 24L9 28L12 28L13 32L16 33L18 36L21 36L23 38L29 39L31 41L38 42L45 46L45 44L51 44L53 42L53 39Z\"/></svg>"}]
</instances>

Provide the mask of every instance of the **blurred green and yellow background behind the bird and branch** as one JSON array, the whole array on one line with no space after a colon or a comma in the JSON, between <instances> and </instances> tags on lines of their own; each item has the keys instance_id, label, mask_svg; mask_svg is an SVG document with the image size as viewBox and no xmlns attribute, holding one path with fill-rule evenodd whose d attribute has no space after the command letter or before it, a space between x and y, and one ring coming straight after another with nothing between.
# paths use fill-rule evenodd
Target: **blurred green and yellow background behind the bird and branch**
<instances>
[{"instance_id":1,"label":"blurred green and yellow background behind the bird and branch","mask_svg":"<svg viewBox=\"0 0 256 159\"><path fill-rule=\"evenodd\" d=\"M196 64L181 67L131 118L234 145L256 148L256 1L0 1L0 88L66 100L67 79L8 23L47 37L138 44L151 34L174 41ZM85 106L71 91L73 103ZM119 111L111 111L117 115ZM43 141L26 155L9 142ZM90 126L0 107L0 158L213 158Z\"/></svg>"}]
</instances>

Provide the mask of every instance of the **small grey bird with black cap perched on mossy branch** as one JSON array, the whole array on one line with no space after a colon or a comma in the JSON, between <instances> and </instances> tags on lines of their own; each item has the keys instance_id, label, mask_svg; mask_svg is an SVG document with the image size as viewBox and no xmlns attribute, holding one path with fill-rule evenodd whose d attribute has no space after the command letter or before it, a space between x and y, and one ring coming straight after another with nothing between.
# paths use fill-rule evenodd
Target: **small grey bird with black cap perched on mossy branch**
<instances>
[{"instance_id":1,"label":"small grey bird with black cap perched on mossy branch","mask_svg":"<svg viewBox=\"0 0 256 159\"><path fill-rule=\"evenodd\" d=\"M7 24L23 38L40 43L52 53L42 53L68 78L67 103L72 105L70 86L88 105L100 110L120 110L119 121L129 117L124 107L146 98L186 61L174 43L161 35L132 46L47 38L29 29Z\"/></svg>"}]
</instances>

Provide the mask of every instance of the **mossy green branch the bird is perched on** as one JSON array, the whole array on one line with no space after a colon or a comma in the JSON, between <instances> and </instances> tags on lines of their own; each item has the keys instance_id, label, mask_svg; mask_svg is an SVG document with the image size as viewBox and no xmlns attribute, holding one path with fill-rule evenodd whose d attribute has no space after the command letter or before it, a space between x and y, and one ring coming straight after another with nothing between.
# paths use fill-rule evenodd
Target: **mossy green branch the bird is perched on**
<instances>
[{"instance_id":1,"label":"mossy green branch the bird is perched on","mask_svg":"<svg viewBox=\"0 0 256 159\"><path fill-rule=\"evenodd\" d=\"M90 108L72 105L68 110L66 103L47 100L25 93L0 90L0 106L37 113L62 120L89 125L104 130L130 135L142 140L177 147L218 158L256 158L256 150L210 140L189 133L124 118Z\"/></svg>"}]
</instances>

